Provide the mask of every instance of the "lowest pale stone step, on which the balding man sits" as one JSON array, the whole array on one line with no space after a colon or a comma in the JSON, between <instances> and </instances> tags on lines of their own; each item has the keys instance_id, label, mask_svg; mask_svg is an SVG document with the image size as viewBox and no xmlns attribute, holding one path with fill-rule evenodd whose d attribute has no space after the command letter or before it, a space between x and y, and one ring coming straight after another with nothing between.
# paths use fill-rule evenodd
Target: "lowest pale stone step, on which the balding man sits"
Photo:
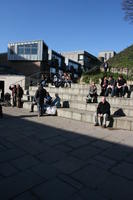
<instances>
[{"instance_id":1,"label":"lowest pale stone step, on which the balding man sits","mask_svg":"<svg viewBox=\"0 0 133 200\"><path fill-rule=\"evenodd\" d=\"M61 108L58 109L58 116L78 120L82 122L94 123L94 112L88 112L84 110L78 110L73 108ZM113 118L113 128L133 130L133 118L132 117L117 117Z\"/></svg>"}]
</instances>

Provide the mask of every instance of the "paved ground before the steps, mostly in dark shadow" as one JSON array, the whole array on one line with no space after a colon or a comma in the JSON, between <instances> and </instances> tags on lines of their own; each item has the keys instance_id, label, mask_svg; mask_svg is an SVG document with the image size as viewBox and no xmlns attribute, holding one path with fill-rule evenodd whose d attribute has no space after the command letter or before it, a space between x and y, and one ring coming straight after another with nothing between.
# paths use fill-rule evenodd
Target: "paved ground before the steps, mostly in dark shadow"
<instances>
[{"instance_id":1,"label":"paved ground before the steps, mostly in dark shadow","mask_svg":"<svg viewBox=\"0 0 133 200\"><path fill-rule=\"evenodd\" d=\"M132 200L133 132L4 108L0 200Z\"/></svg>"}]
</instances>

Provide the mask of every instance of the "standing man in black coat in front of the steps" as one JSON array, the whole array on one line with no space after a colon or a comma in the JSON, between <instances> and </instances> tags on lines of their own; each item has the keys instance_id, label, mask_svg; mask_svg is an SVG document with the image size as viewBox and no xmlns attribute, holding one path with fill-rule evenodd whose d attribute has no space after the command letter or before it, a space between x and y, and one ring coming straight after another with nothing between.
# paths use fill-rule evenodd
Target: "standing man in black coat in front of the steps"
<instances>
[{"instance_id":1,"label":"standing man in black coat in front of the steps","mask_svg":"<svg viewBox=\"0 0 133 200\"><path fill-rule=\"evenodd\" d=\"M37 107L38 107L38 117L43 115L45 97L46 97L46 90L43 88L42 85L39 85L35 93L35 99L36 99Z\"/></svg>"}]
</instances>

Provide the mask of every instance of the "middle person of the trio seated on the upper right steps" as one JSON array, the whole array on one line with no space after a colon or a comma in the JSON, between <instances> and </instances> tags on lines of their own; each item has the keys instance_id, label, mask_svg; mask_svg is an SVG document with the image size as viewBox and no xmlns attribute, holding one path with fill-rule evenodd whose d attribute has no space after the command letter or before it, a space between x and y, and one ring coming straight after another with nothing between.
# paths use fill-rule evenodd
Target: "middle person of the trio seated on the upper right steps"
<instances>
[{"instance_id":1,"label":"middle person of the trio seated on the upper right steps","mask_svg":"<svg viewBox=\"0 0 133 200\"><path fill-rule=\"evenodd\" d=\"M108 96L111 93L111 97L115 95L115 86L116 81L114 80L113 76L109 76L108 86L106 88L105 96Z\"/></svg>"}]
</instances>

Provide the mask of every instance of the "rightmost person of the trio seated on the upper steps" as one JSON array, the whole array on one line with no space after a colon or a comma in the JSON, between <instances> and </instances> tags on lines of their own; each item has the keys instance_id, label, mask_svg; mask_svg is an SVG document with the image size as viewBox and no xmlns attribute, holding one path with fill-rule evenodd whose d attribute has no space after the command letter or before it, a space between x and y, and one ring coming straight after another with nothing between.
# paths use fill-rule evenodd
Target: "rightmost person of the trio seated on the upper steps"
<instances>
[{"instance_id":1,"label":"rightmost person of the trio seated on the upper steps","mask_svg":"<svg viewBox=\"0 0 133 200\"><path fill-rule=\"evenodd\" d=\"M130 91L128 90L127 82L123 78L123 76L120 75L118 77L117 85L116 85L116 96L124 97L126 93L127 93L128 96L130 95L129 94Z\"/></svg>"}]
</instances>

